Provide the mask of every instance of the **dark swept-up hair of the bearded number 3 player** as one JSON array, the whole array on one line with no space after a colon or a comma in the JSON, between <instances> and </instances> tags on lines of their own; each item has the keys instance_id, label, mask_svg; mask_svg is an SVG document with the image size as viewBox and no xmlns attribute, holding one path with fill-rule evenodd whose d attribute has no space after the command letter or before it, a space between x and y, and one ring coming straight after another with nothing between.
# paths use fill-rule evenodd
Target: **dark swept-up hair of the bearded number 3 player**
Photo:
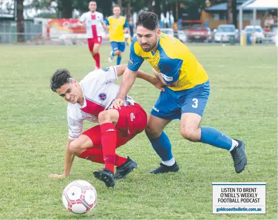
<instances>
[{"instance_id":1,"label":"dark swept-up hair of the bearded number 3 player","mask_svg":"<svg viewBox=\"0 0 278 220\"><path fill-rule=\"evenodd\" d=\"M136 21L136 28L138 26L143 26L148 30L156 30L158 28L159 20L158 15L156 13L150 11L141 11L138 14Z\"/></svg>"}]
</instances>

